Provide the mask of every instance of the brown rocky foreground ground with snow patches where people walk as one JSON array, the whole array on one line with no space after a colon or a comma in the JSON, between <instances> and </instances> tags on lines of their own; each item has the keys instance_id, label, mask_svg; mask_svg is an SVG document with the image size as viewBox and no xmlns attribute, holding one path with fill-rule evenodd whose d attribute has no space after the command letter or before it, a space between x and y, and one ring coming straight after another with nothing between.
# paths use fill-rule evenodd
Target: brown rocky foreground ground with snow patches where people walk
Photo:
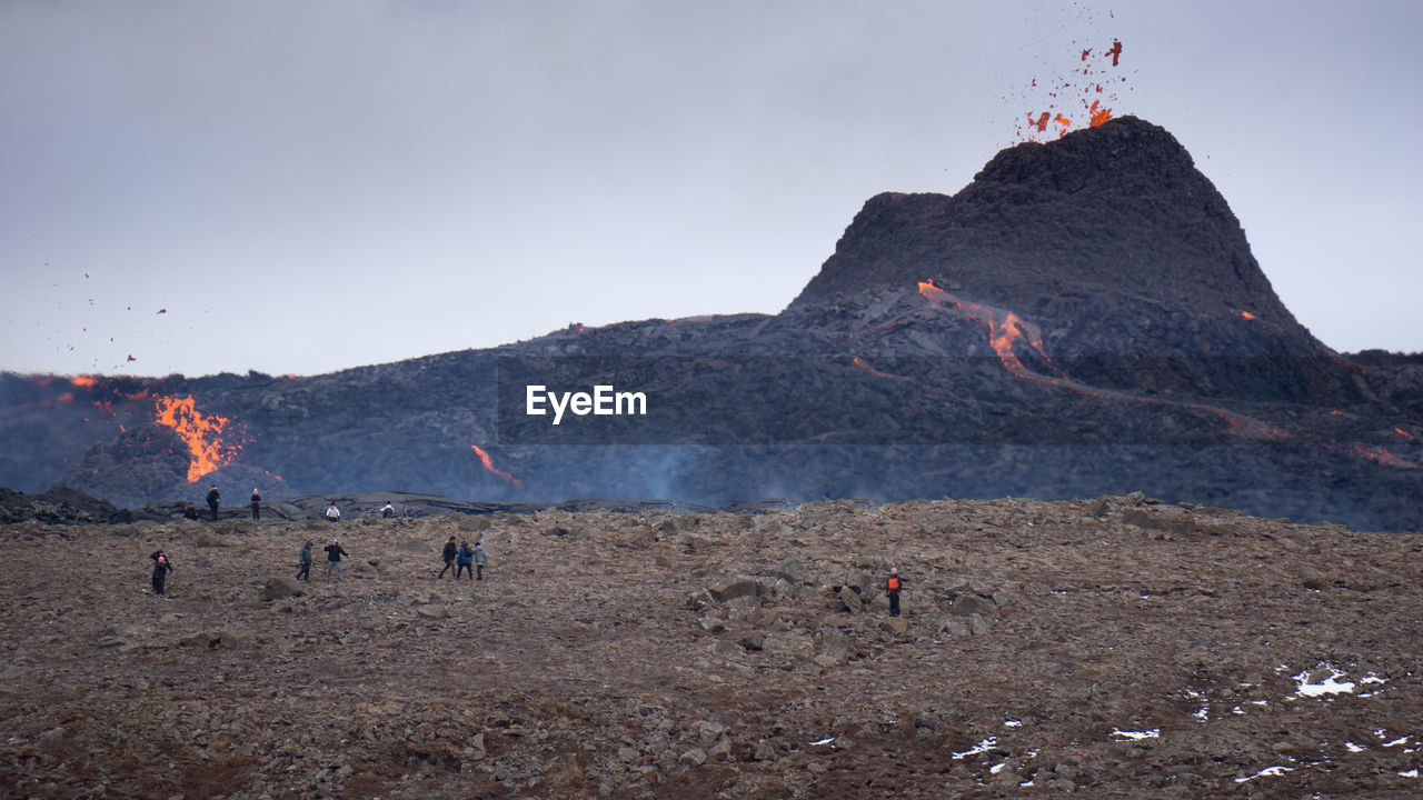
<instances>
[{"instance_id":1,"label":"brown rocky foreground ground with snow patches where people walk","mask_svg":"<svg viewBox=\"0 0 1423 800\"><path fill-rule=\"evenodd\" d=\"M282 596L333 532L344 579ZM1131 497L0 541L0 797L1423 793L1417 534Z\"/></svg>"}]
</instances>

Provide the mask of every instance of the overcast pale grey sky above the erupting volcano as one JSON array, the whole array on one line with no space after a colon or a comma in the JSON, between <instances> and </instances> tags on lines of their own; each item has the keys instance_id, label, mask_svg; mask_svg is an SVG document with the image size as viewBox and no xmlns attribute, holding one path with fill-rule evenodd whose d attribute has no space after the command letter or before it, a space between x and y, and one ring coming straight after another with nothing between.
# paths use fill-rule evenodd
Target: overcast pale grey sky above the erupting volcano
<instances>
[{"instance_id":1,"label":"overcast pale grey sky above the erupting volcano","mask_svg":"<svg viewBox=\"0 0 1423 800\"><path fill-rule=\"evenodd\" d=\"M774 313L865 199L961 189L1113 38L1113 112L1191 151L1295 316L1423 350L1420 31L1403 0L10 0L0 369Z\"/></svg>"}]
</instances>

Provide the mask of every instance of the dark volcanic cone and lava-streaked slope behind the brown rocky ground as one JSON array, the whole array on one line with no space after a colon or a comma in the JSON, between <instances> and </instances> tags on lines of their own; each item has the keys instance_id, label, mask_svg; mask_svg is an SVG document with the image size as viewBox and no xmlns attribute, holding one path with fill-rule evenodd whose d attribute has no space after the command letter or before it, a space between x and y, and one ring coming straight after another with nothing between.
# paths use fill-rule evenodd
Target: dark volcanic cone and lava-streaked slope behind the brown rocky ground
<instances>
[{"instance_id":1,"label":"dark volcanic cone and lava-streaked slope behind the brown rocky ground","mask_svg":"<svg viewBox=\"0 0 1423 800\"><path fill-rule=\"evenodd\" d=\"M525 413L532 384L609 384L647 413L555 427ZM0 376L0 485L124 505L209 483L236 504L1141 490L1419 530L1420 384L1423 366L1319 344L1190 155L1123 118L1006 149L953 196L872 198L776 316L571 326L303 379ZM229 464L195 478L174 458L152 421L176 396L240 431Z\"/></svg>"}]
</instances>

